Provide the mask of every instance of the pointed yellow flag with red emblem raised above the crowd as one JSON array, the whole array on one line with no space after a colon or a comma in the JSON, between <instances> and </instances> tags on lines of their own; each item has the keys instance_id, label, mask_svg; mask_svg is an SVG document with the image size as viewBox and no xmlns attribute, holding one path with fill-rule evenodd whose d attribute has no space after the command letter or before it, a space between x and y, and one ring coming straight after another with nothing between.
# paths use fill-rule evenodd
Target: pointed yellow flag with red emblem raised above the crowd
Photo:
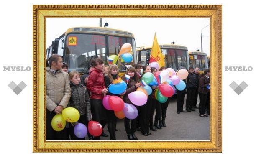
<instances>
[{"instance_id":1,"label":"pointed yellow flag with red emblem raised above the crowd","mask_svg":"<svg viewBox=\"0 0 256 158\"><path fill-rule=\"evenodd\" d=\"M149 63L157 62L159 64L159 68L164 66L164 57L162 55L161 49L158 45L157 39L156 39L156 33L154 36L153 46L151 50L151 56L149 59Z\"/></svg>"}]
</instances>

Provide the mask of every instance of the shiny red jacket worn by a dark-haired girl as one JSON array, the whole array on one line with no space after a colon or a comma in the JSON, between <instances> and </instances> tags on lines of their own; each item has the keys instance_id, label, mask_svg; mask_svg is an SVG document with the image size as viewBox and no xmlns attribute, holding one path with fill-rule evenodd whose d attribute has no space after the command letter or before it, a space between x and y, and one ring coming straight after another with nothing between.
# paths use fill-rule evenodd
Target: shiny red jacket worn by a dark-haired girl
<instances>
[{"instance_id":1,"label":"shiny red jacket worn by a dark-haired girl","mask_svg":"<svg viewBox=\"0 0 256 158\"><path fill-rule=\"evenodd\" d=\"M103 71L92 67L90 69L90 74L86 86L90 92L90 99L102 100L104 97L102 90L106 88Z\"/></svg>"}]
</instances>

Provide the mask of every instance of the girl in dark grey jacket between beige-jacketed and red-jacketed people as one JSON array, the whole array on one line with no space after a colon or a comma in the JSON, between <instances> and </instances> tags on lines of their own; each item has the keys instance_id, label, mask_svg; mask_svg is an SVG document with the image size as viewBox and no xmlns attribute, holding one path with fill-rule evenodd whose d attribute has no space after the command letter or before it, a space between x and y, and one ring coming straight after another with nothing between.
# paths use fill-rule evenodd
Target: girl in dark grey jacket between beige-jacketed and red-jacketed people
<instances>
[{"instance_id":1,"label":"girl in dark grey jacket between beige-jacketed and red-jacketed people","mask_svg":"<svg viewBox=\"0 0 256 158\"><path fill-rule=\"evenodd\" d=\"M87 125L88 121L92 120L91 116L91 102L90 96L87 92L87 88L81 83L81 77L78 71L71 71L69 74L71 97L69 100L69 107L74 107L79 111L80 117L78 122ZM74 123L69 123L69 132L71 140L84 140L87 133L83 133L81 138L81 132L76 131ZM77 133L80 135L78 136ZM77 137L78 136L78 137Z\"/></svg>"}]
</instances>

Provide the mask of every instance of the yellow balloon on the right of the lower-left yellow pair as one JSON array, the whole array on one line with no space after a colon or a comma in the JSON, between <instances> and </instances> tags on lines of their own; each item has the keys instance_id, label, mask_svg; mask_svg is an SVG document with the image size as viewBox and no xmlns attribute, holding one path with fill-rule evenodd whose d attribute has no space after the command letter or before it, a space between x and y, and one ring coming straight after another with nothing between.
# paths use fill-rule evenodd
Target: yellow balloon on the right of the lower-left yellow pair
<instances>
[{"instance_id":1,"label":"yellow balloon on the right of the lower-left yellow pair","mask_svg":"<svg viewBox=\"0 0 256 158\"><path fill-rule=\"evenodd\" d=\"M80 118L79 111L74 107L67 107L62 110L62 116L67 122L77 122Z\"/></svg>"}]
</instances>

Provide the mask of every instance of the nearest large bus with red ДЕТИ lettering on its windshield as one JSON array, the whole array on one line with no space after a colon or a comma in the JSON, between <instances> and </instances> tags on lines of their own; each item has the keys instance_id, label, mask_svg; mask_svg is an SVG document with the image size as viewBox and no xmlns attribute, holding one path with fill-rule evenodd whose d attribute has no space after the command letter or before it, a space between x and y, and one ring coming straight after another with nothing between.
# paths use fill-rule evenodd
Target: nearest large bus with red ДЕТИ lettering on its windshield
<instances>
[{"instance_id":1,"label":"nearest large bus with red \u0414\u0415\u0422\u0418 lettering on its windshield","mask_svg":"<svg viewBox=\"0 0 256 158\"><path fill-rule=\"evenodd\" d=\"M111 28L69 28L59 38L53 41L46 50L46 58L51 54L59 54L63 62L68 65L68 73L76 70L79 73L88 73L90 61L95 58L103 60L108 65L107 57L118 55L124 43L130 43L136 48L132 33ZM136 63L136 49L132 49L133 61L123 63L120 72L126 71L126 65ZM117 64L117 61L115 61Z\"/></svg>"}]
</instances>

